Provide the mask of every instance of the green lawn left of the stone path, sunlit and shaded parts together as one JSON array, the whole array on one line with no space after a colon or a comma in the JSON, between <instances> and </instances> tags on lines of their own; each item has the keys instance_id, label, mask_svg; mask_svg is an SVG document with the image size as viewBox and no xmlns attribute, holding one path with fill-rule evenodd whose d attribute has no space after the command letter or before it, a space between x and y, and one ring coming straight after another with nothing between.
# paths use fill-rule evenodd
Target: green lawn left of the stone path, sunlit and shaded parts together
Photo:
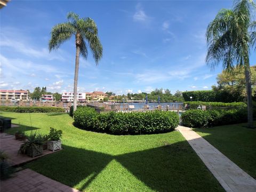
<instances>
[{"instance_id":1,"label":"green lawn left of the stone path, sunlit and shaded parts together","mask_svg":"<svg viewBox=\"0 0 256 192\"><path fill-rule=\"evenodd\" d=\"M63 150L26 167L79 190L224 191L177 131L118 136L79 130L67 114L1 115L27 127L26 134L63 130Z\"/></svg>"}]
</instances>

